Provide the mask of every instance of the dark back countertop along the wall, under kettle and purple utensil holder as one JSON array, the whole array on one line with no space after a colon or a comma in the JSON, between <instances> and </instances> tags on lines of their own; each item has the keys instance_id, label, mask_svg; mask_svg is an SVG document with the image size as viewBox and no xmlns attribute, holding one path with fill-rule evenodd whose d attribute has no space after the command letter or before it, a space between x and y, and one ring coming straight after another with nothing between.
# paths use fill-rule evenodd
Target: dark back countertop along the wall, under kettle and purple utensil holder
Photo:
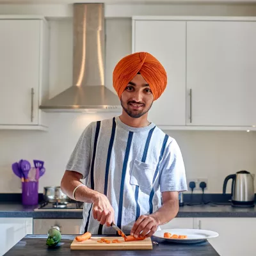
<instances>
[{"instance_id":1,"label":"dark back countertop along the wall, under kettle and purple utensil holder","mask_svg":"<svg viewBox=\"0 0 256 256\"><path fill-rule=\"evenodd\" d=\"M83 211L34 211L37 205L0 204L0 218L83 218ZM230 205L180 206L177 218L256 218L256 207L234 208Z\"/></svg>"}]
</instances>

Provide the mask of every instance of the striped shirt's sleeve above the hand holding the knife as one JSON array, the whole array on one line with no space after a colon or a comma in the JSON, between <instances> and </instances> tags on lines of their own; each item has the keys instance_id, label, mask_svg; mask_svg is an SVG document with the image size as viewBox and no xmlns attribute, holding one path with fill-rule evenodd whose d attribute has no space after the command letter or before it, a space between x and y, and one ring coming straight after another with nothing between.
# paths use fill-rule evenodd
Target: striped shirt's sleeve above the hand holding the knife
<instances>
[{"instance_id":1,"label":"striped shirt's sleeve above the hand holding the knife","mask_svg":"<svg viewBox=\"0 0 256 256\"><path fill-rule=\"evenodd\" d=\"M68 171L81 173L83 179L88 177L90 171L92 128L93 123L84 129L66 166Z\"/></svg>"}]
</instances>

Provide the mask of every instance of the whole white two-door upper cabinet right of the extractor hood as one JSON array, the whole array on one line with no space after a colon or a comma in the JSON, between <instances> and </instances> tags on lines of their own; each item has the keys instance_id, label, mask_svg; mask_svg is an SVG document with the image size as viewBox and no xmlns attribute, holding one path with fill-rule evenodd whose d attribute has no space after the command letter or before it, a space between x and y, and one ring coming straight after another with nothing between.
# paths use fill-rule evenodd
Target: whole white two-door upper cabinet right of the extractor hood
<instances>
[{"instance_id":1,"label":"whole white two-door upper cabinet right of the extractor hood","mask_svg":"<svg viewBox=\"0 0 256 256\"><path fill-rule=\"evenodd\" d=\"M152 122L163 129L256 129L256 19L133 17L132 28L132 51L152 53L168 73Z\"/></svg>"}]
</instances>

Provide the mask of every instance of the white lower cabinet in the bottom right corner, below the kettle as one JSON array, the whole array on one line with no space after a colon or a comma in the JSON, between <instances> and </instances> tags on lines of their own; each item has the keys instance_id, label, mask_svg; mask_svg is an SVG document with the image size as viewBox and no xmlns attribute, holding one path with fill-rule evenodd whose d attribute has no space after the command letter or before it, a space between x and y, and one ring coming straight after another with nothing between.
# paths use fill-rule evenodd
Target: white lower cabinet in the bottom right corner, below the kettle
<instances>
[{"instance_id":1,"label":"white lower cabinet in the bottom right corner, below the kettle","mask_svg":"<svg viewBox=\"0 0 256 256\"><path fill-rule=\"evenodd\" d=\"M221 256L254 256L256 218L195 218L195 228L218 232L208 239Z\"/></svg>"}]
</instances>

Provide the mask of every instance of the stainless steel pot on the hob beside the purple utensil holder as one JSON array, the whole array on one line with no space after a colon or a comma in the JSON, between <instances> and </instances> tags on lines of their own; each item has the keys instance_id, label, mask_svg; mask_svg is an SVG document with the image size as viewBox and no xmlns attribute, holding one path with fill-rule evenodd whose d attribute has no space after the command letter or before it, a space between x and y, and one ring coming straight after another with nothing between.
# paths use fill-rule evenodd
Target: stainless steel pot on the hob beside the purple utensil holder
<instances>
[{"instance_id":1,"label":"stainless steel pot on the hob beside the purple utensil holder","mask_svg":"<svg viewBox=\"0 0 256 256\"><path fill-rule=\"evenodd\" d=\"M65 195L62 191L60 186L58 187L44 187L44 200L48 203L62 203L67 204L70 202L70 198Z\"/></svg>"}]
</instances>

